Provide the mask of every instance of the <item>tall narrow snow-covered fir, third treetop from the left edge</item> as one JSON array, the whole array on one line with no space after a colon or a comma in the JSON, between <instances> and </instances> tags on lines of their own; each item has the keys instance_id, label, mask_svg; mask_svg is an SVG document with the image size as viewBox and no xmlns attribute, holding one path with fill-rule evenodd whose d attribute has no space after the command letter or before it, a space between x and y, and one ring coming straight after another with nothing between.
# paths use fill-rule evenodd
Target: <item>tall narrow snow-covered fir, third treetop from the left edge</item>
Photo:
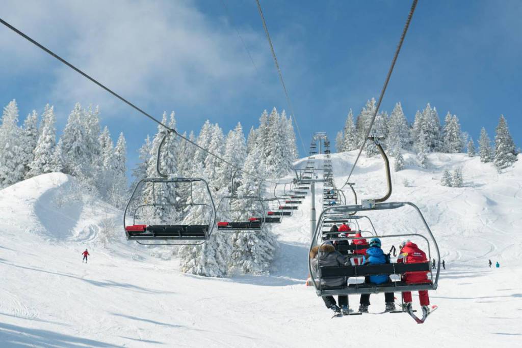
<instances>
[{"instance_id":1,"label":"tall narrow snow-covered fir, third treetop from the left edge","mask_svg":"<svg viewBox=\"0 0 522 348\"><path fill-rule=\"evenodd\" d=\"M29 172L26 178L32 178L43 173L50 173L54 170L53 154L56 145L55 123L54 107L47 104L43 110L40 135L37 145L34 148L34 157L29 164Z\"/></svg>"}]
</instances>

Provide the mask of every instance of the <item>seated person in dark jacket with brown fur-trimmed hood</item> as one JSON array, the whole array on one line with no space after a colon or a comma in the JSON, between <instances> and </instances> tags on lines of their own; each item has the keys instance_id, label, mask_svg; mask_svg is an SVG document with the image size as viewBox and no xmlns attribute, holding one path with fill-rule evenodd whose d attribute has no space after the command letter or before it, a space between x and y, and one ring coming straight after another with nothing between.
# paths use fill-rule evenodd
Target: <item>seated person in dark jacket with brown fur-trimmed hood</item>
<instances>
[{"instance_id":1,"label":"seated person in dark jacket with brown fur-trimmed hood","mask_svg":"<svg viewBox=\"0 0 522 348\"><path fill-rule=\"evenodd\" d=\"M316 245L310 251L310 259L312 260L312 276L314 279L317 277L317 271L319 266L347 266L350 265L350 257L342 255L335 250L335 246L330 242L324 243L319 247ZM321 281L321 287L325 288L339 288L346 287L346 277L335 277L335 278L323 278ZM327 308L330 308L335 313L341 313L342 315L348 315L348 295L339 295L338 303L335 302L334 296L323 296L323 301Z\"/></svg>"}]
</instances>

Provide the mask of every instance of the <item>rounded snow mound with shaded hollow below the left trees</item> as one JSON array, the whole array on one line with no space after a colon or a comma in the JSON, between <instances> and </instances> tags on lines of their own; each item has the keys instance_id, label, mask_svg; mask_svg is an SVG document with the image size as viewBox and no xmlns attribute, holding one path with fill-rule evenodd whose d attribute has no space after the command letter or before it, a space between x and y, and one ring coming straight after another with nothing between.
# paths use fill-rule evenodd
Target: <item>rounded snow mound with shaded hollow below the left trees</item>
<instances>
[{"instance_id":1,"label":"rounded snow mound with shaded hollow below the left trees","mask_svg":"<svg viewBox=\"0 0 522 348\"><path fill-rule=\"evenodd\" d=\"M122 213L80 190L63 173L18 182L0 191L0 223L53 241L96 241L101 226Z\"/></svg>"}]
</instances>

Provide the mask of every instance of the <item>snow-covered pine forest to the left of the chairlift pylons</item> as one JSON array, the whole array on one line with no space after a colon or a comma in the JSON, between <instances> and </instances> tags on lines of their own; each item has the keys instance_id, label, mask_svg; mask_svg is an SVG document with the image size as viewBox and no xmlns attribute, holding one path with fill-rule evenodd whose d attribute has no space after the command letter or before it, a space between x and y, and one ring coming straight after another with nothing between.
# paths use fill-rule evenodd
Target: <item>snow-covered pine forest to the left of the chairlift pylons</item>
<instances>
[{"instance_id":1,"label":"snow-covered pine forest to the left of the chairlift pylons","mask_svg":"<svg viewBox=\"0 0 522 348\"><path fill-rule=\"evenodd\" d=\"M147 136L139 149L138 164L132 168L132 182L127 182L126 144L123 133L116 144L107 127L100 125L100 110L89 106L82 108L77 103L70 111L67 124L58 137L53 106L46 105L39 117L36 110L30 113L19 126L16 101L4 107L0 127L0 188L6 188L21 180L34 176L62 172L78 179L75 190L91 197L98 197L122 209L127 203L130 191L146 177L157 177L156 160L159 143L164 129ZM163 113L162 123L176 129L174 113ZM276 108L270 114L265 110L259 118L257 129L252 127L247 138L241 123L227 135L217 123L207 120L199 133L191 131L183 136L206 148L213 154L226 159L235 167L243 168L263 178L279 178L289 173L293 161L298 156L295 133L291 117ZM169 136L162 147L161 168L169 175L177 177L200 177L210 185L214 201L232 193L231 179L235 169L205 151L175 136ZM239 195L257 194L259 182L256 178L235 176L234 192ZM164 190L161 199L176 202L186 199L182 187L179 191ZM186 190L186 188L185 188ZM75 193L78 195L78 192ZM206 191L195 188L194 200L205 201ZM150 187L139 188L137 200L152 201ZM64 198L65 199L65 198ZM236 210L248 210L249 202L234 203ZM241 206L238 206L241 205ZM226 208L226 207L225 207ZM169 221L202 223L202 212L179 210L175 216L156 214L156 223ZM154 214L153 214L154 215ZM235 218L248 218L236 216ZM226 212L218 212L218 218L227 218ZM116 228L117 229L117 228ZM120 229L110 233L113 237ZM277 250L274 234L267 227L260 233L215 233L211 242L203 246L164 247L161 255L179 253L182 270L197 275L223 277L236 273L265 274ZM158 253L155 251L155 253Z\"/></svg>"}]
</instances>

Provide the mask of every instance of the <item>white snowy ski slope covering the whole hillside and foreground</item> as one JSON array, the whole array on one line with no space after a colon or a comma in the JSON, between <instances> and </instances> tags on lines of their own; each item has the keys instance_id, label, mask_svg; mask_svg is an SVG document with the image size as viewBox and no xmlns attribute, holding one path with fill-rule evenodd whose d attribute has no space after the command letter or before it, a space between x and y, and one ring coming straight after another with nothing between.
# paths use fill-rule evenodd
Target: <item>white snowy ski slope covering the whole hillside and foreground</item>
<instances>
[{"instance_id":1,"label":"white snowy ski slope covering the whole hillside and foreground","mask_svg":"<svg viewBox=\"0 0 522 348\"><path fill-rule=\"evenodd\" d=\"M354 158L355 153L332 155L338 187ZM423 170L405 155L411 164L393 173L390 198L421 208L446 261L439 288L430 293L439 308L423 325L407 314L330 319L331 311L304 286L310 195L274 226L280 250L270 276L215 279L179 272L178 260L151 256L152 250L125 241L123 231L120 240L103 247L103 230L112 223L120 231L122 213L94 198L64 200L74 191L74 179L50 173L0 191L0 347L518 347L522 157L501 175L463 154L429 158L432 165ZM305 163L306 158L296 166ZM442 187L443 170L456 167L463 169L465 187ZM386 190L378 157L362 157L352 178L360 198ZM318 212L321 190L317 185ZM418 226L411 210L400 212L374 214L379 233ZM91 256L82 264L86 247ZM501 267L488 268L489 258ZM358 300L350 296L355 309ZM382 294L372 295L371 303L370 312L384 310ZM413 305L419 307L415 295Z\"/></svg>"}]
</instances>

